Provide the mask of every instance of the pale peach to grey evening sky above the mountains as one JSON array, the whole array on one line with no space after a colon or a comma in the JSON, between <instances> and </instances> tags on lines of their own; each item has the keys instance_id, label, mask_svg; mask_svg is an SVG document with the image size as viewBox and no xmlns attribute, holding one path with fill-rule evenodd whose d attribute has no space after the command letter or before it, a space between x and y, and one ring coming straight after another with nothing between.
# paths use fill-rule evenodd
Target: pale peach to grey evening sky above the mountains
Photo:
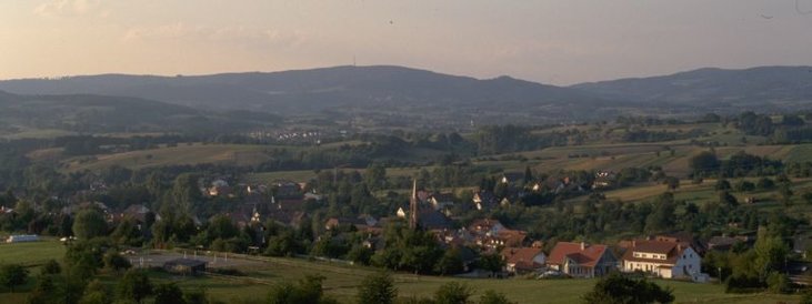
<instances>
[{"instance_id":1,"label":"pale peach to grey evening sky above the mountains","mask_svg":"<svg viewBox=\"0 0 812 304\"><path fill-rule=\"evenodd\" d=\"M558 85L812 65L812 0L0 1L0 79L353 63Z\"/></svg>"}]
</instances>

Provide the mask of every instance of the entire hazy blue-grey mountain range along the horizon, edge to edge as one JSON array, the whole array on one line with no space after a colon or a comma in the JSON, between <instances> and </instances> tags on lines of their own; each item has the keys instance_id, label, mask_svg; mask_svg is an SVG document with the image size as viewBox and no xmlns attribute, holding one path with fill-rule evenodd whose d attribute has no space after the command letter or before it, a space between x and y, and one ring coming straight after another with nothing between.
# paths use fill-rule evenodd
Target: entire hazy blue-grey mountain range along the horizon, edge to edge
<instances>
[{"instance_id":1,"label":"entire hazy blue-grey mountain range along the horizon, edge to edge","mask_svg":"<svg viewBox=\"0 0 812 304\"><path fill-rule=\"evenodd\" d=\"M812 68L699 69L671 75L555 87L510 77L474 79L394 65L190 77L100 74L0 81L18 94L102 94L205 111L352 120L455 119L454 125L605 120L619 114L795 111L812 104Z\"/></svg>"}]
</instances>

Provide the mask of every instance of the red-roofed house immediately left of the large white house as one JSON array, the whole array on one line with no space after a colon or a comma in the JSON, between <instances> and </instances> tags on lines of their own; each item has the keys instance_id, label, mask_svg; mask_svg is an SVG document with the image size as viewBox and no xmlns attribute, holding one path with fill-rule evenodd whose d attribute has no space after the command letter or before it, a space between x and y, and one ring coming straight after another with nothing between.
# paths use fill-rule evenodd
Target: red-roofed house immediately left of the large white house
<instances>
[{"instance_id":1,"label":"red-roofed house immediately left of the large white house","mask_svg":"<svg viewBox=\"0 0 812 304\"><path fill-rule=\"evenodd\" d=\"M575 277L595 277L618 268L618 259L601 244L558 242L547 266Z\"/></svg>"}]
</instances>

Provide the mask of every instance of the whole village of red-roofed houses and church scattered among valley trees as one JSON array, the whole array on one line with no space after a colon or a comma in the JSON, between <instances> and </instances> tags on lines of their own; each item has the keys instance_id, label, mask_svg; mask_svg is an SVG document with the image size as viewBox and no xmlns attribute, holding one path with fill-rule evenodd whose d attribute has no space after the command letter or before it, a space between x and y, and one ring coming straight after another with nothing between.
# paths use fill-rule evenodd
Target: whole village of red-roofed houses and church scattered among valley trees
<instances>
[{"instance_id":1,"label":"whole village of red-roofed houses and church scattered among valley trees","mask_svg":"<svg viewBox=\"0 0 812 304\"><path fill-rule=\"evenodd\" d=\"M613 173L611 173L613 174ZM593 188L607 186L610 173L600 172ZM501 183L510 183L513 176L504 175ZM555 188L565 186L562 181ZM529 186L539 189L539 184ZM94 185L93 191L104 189L104 185ZM271 189L273 193L271 194ZM208 186L200 189L209 197L239 196L240 204L228 219L240 230L255 230L258 237L241 253L257 254L260 247L267 246L268 240L262 231L268 222L279 225L298 227L305 213L307 204L315 204L325 200L323 195L308 189L307 183L279 180L271 184L230 185L222 179L211 181ZM103 203L78 205L77 209L96 207L104 213L111 226L120 224L124 219L134 221L138 229L148 222L161 221L161 215L152 212L142 204L133 204L124 210L113 211ZM696 283L706 283L710 276L702 272L702 255L709 251L728 251L731 246L751 246L752 237L718 235L708 242L701 243L689 233L673 232L665 234L645 235L622 240L618 243L603 244L577 240L559 240L544 243L528 236L527 231L510 229L499 220L481 217L473 219L470 224L460 226L454 220L455 205L467 204L469 209L478 211L507 206L510 201L504 197L498 200L490 191L477 191L470 202L457 202L452 193L435 193L418 190L417 181L408 204L398 207L391 216L374 217L371 215L327 217L323 219L323 230L335 240L355 239L350 234L362 235L360 243L371 251L382 250L384 246L384 227L394 221L407 222L410 229L422 229L431 233L439 246L444 250L454 249L459 252L463 268L458 274L461 277L509 277L528 276L537 278L557 277L600 277L611 272L638 273L644 276L673 278ZM64 213L74 212L70 207ZM3 213L13 213L13 210L3 210ZM150 219L151 217L151 219ZM199 229L203 221L192 216ZM333 233L330 233L333 231ZM321 237L321 236L319 236ZM36 235L10 236L7 242L36 241ZM318 239L317 239L318 242ZM478 260L484 255L499 255L501 268L483 270ZM188 262L189 263L189 262Z\"/></svg>"}]
</instances>

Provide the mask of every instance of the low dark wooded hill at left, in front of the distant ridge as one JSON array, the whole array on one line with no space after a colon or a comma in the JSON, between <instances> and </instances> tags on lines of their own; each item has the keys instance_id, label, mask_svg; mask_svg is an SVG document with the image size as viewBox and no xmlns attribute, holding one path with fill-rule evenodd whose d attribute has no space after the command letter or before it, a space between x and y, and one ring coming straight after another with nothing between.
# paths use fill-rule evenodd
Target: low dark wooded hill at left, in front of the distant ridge
<instances>
[{"instance_id":1,"label":"low dark wooded hill at left, in front of the distant ridge","mask_svg":"<svg viewBox=\"0 0 812 304\"><path fill-rule=\"evenodd\" d=\"M0 91L0 129L74 132L205 132L274 123L273 115L214 113L159 101L90 94L18 95Z\"/></svg>"}]
</instances>

